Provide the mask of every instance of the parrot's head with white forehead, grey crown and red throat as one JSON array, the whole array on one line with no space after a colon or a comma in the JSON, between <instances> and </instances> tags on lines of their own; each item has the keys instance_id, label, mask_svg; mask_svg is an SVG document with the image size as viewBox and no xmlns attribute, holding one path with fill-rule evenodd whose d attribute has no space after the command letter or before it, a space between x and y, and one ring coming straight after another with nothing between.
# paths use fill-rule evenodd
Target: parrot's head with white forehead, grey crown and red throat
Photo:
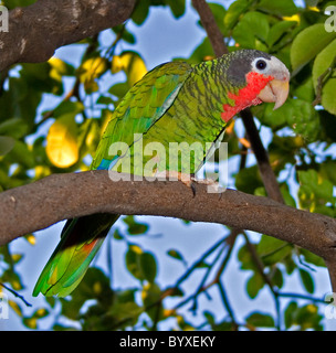
<instances>
[{"instance_id":1,"label":"parrot's head with white forehead, grey crown and red throat","mask_svg":"<svg viewBox=\"0 0 336 353\"><path fill-rule=\"evenodd\" d=\"M290 89L290 72L275 56L255 50L241 50L223 56L225 79L234 93L224 104L222 118L228 121L240 110L263 101L274 101L281 107Z\"/></svg>"}]
</instances>

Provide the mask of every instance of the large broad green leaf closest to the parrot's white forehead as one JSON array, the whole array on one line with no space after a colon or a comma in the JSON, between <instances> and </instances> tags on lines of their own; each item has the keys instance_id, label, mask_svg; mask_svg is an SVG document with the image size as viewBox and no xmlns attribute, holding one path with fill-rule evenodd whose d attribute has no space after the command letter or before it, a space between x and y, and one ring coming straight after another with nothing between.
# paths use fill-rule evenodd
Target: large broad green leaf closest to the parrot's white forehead
<instances>
[{"instance_id":1,"label":"large broad green leaf closest to the parrot's white forehead","mask_svg":"<svg viewBox=\"0 0 336 353\"><path fill-rule=\"evenodd\" d=\"M328 33L323 23L313 24L301 31L293 41L291 49L293 75L313 60L335 38L336 32Z\"/></svg>"}]
</instances>

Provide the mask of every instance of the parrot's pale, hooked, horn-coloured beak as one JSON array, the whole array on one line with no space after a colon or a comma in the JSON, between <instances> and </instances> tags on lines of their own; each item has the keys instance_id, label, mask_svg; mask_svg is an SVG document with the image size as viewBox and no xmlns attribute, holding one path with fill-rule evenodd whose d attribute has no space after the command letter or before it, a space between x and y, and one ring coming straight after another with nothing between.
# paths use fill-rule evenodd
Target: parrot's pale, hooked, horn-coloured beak
<instances>
[{"instance_id":1,"label":"parrot's pale, hooked, horn-coloured beak","mask_svg":"<svg viewBox=\"0 0 336 353\"><path fill-rule=\"evenodd\" d=\"M260 92L258 97L262 101L275 101L273 110L280 108L287 99L290 92L288 79L272 79Z\"/></svg>"}]
</instances>

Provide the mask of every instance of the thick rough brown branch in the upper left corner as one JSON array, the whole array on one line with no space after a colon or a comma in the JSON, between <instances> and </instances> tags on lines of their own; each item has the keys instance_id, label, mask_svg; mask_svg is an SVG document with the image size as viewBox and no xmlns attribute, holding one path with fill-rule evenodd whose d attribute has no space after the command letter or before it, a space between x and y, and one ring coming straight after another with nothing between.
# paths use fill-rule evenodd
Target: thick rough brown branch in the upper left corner
<instances>
[{"instance_id":1,"label":"thick rough brown branch in the upper left corner","mask_svg":"<svg viewBox=\"0 0 336 353\"><path fill-rule=\"evenodd\" d=\"M49 60L65 44L127 20L136 0L38 0L10 11L9 32L0 32L0 72L14 63Z\"/></svg>"}]
</instances>

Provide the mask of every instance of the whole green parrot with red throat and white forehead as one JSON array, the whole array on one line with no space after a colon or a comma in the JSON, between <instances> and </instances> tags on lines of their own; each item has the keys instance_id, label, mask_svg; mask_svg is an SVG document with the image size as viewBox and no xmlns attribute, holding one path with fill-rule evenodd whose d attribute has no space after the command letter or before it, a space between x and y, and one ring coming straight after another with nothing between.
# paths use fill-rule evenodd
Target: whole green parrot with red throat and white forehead
<instances>
[{"instance_id":1,"label":"whole green parrot with red throat and white forehead","mask_svg":"<svg viewBox=\"0 0 336 353\"><path fill-rule=\"evenodd\" d=\"M234 51L198 65L161 64L148 72L122 99L105 129L91 169L122 169L134 175L149 175L156 171L183 173L181 163L171 163L166 156L169 143L188 142L190 146L197 142L203 147L202 152L187 170L195 174L210 152L209 146L222 136L228 121L242 109L262 101L275 103L274 109L282 106L288 95L288 81L290 73L280 60L255 50ZM151 168L153 163L145 168L153 161L153 154L145 153L153 142L162 148L157 149L156 168ZM69 220L33 296L40 292L70 295L118 217L94 214Z\"/></svg>"}]
</instances>

